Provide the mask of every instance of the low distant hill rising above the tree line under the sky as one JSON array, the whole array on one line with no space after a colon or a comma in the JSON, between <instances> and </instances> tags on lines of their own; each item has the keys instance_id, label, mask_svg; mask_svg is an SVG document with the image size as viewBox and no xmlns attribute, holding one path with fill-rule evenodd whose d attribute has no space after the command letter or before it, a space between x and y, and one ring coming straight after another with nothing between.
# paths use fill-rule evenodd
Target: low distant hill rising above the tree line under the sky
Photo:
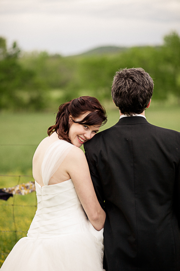
<instances>
[{"instance_id":1,"label":"low distant hill rising above the tree line under the sky","mask_svg":"<svg viewBox=\"0 0 180 271\"><path fill-rule=\"evenodd\" d=\"M91 49L79 55L104 55L104 54L116 54L127 50L127 47L118 46L102 46L98 48Z\"/></svg>"}]
</instances>

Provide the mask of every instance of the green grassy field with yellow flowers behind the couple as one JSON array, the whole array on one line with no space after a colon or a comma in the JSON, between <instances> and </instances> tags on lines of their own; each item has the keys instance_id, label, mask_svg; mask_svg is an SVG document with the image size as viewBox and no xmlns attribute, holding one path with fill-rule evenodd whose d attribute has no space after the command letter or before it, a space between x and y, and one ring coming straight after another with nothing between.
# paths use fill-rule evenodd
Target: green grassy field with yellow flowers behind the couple
<instances>
[{"instance_id":1,"label":"green grassy field with yellow flowers behind the couple","mask_svg":"<svg viewBox=\"0 0 180 271\"><path fill-rule=\"evenodd\" d=\"M157 126L180 132L180 108L152 106L146 110L147 120ZM107 129L119 120L119 111L108 112L108 122L101 127ZM11 187L18 182L32 181L32 157L47 129L55 121L52 113L1 113L0 114L0 188ZM26 236L36 209L35 192L16 195L7 201L0 200L0 266L19 238Z\"/></svg>"}]
</instances>

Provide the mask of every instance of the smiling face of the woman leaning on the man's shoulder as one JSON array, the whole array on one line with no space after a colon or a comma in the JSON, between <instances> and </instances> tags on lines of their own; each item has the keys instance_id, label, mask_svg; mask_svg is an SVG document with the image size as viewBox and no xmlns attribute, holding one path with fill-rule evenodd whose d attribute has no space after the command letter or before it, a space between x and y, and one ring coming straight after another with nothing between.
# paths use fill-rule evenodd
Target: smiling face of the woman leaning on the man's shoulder
<instances>
[{"instance_id":1,"label":"smiling face of the woman leaning on the man's shoulder","mask_svg":"<svg viewBox=\"0 0 180 271\"><path fill-rule=\"evenodd\" d=\"M87 114L86 112L82 114L79 118L73 119L75 121L83 120ZM69 139L71 143L76 147L81 147L82 144L89 139L91 139L99 131L100 125L83 125L79 123L74 123L72 121L72 116L69 116L70 128L69 128Z\"/></svg>"}]
</instances>

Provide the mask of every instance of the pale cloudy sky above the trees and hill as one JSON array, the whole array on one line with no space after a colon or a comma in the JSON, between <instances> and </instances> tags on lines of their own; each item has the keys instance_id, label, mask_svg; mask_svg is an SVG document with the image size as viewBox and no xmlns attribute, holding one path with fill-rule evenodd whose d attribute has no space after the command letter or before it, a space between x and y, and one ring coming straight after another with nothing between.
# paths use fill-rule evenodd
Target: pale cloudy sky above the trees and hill
<instances>
[{"instance_id":1,"label":"pale cloudy sky above the trees and hill","mask_svg":"<svg viewBox=\"0 0 180 271\"><path fill-rule=\"evenodd\" d=\"M0 0L0 36L22 51L159 45L171 31L180 35L180 0Z\"/></svg>"}]
</instances>

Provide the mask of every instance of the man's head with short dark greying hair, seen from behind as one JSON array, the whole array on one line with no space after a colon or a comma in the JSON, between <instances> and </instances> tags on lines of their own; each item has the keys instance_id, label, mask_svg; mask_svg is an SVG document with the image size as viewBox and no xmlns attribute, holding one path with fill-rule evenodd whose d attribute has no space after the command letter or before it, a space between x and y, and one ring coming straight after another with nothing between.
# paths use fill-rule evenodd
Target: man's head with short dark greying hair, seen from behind
<instances>
[{"instance_id":1,"label":"man's head with short dark greying hair, seen from behind","mask_svg":"<svg viewBox=\"0 0 180 271\"><path fill-rule=\"evenodd\" d=\"M153 80L142 68L123 69L116 72L111 94L122 114L141 114L149 104Z\"/></svg>"}]
</instances>

